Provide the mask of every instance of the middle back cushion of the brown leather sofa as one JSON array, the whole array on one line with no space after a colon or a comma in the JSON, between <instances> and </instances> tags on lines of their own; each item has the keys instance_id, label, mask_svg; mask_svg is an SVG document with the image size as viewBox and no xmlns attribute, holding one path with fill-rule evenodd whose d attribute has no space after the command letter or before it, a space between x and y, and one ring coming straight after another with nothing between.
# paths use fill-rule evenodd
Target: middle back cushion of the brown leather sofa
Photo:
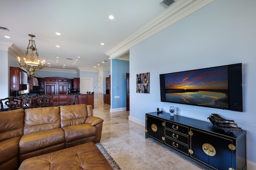
<instances>
[{"instance_id":1,"label":"middle back cushion of the brown leather sofa","mask_svg":"<svg viewBox=\"0 0 256 170\"><path fill-rule=\"evenodd\" d=\"M60 107L25 109L24 135L60 128Z\"/></svg>"}]
</instances>

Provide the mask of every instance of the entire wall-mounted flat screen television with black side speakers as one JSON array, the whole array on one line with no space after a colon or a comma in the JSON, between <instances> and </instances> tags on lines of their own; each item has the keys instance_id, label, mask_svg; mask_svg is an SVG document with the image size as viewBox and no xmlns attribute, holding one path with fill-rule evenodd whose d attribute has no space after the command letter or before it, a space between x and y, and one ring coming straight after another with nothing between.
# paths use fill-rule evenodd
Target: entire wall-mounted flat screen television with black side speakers
<instances>
[{"instance_id":1,"label":"entire wall-mounted flat screen television with black side speakers","mask_svg":"<svg viewBox=\"0 0 256 170\"><path fill-rule=\"evenodd\" d=\"M160 74L161 102L243 111L242 63Z\"/></svg>"}]
</instances>

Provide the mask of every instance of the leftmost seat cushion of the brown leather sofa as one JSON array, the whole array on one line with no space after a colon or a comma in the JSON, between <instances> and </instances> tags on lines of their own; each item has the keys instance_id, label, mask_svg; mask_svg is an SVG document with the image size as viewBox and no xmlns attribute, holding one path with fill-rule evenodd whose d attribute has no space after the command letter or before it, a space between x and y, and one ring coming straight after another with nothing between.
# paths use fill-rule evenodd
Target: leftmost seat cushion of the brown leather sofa
<instances>
[{"instance_id":1,"label":"leftmost seat cushion of the brown leather sofa","mask_svg":"<svg viewBox=\"0 0 256 170\"><path fill-rule=\"evenodd\" d=\"M13 137L0 142L0 164L18 155L20 138L21 137Z\"/></svg>"}]
</instances>

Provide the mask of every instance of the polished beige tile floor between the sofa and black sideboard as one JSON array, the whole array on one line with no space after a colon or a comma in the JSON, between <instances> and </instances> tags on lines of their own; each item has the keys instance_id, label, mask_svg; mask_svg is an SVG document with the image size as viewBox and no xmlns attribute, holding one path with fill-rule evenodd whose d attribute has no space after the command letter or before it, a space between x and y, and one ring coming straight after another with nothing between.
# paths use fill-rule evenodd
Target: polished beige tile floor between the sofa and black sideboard
<instances>
[{"instance_id":1,"label":"polished beige tile floor between the sofa and black sideboard","mask_svg":"<svg viewBox=\"0 0 256 170\"><path fill-rule=\"evenodd\" d=\"M145 127L128 120L129 111L110 113L94 102L94 115L104 119L100 143L122 170L209 170L169 147L145 138Z\"/></svg>"}]
</instances>

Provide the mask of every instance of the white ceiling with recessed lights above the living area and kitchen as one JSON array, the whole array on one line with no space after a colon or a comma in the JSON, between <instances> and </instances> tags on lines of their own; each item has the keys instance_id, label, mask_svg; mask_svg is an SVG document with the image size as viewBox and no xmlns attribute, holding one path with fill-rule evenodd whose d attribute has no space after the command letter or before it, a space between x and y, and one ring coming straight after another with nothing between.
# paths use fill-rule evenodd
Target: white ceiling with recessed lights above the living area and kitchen
<instances>
[{"instance_id":1,"label":"white ceiling with recessed lights above the living area and kitchen","mask_svg":"<svg viewBox=\"0 0 256 170\"><path fill-rule=\"evenodd\" d=\"M0 43L14 43L20 51L19 57L24 58L28 40L31 39L28 34L33 34L36 36L33 40L39 58L46 61L45 68L83 68L92 71L109 69L110 60L105 53L166 10L160 5L161 2L162 0L1 0L0 27L6 27L10 31L0 29ZM110 20L109 15L113 15L115 19ZM56 32L61 35L56 35ZM9 36L10 39L4 36ZM56 57L59 57L58 63ZM77 63L73 64L76 59Z\"/></svg>"}]
</instances>

